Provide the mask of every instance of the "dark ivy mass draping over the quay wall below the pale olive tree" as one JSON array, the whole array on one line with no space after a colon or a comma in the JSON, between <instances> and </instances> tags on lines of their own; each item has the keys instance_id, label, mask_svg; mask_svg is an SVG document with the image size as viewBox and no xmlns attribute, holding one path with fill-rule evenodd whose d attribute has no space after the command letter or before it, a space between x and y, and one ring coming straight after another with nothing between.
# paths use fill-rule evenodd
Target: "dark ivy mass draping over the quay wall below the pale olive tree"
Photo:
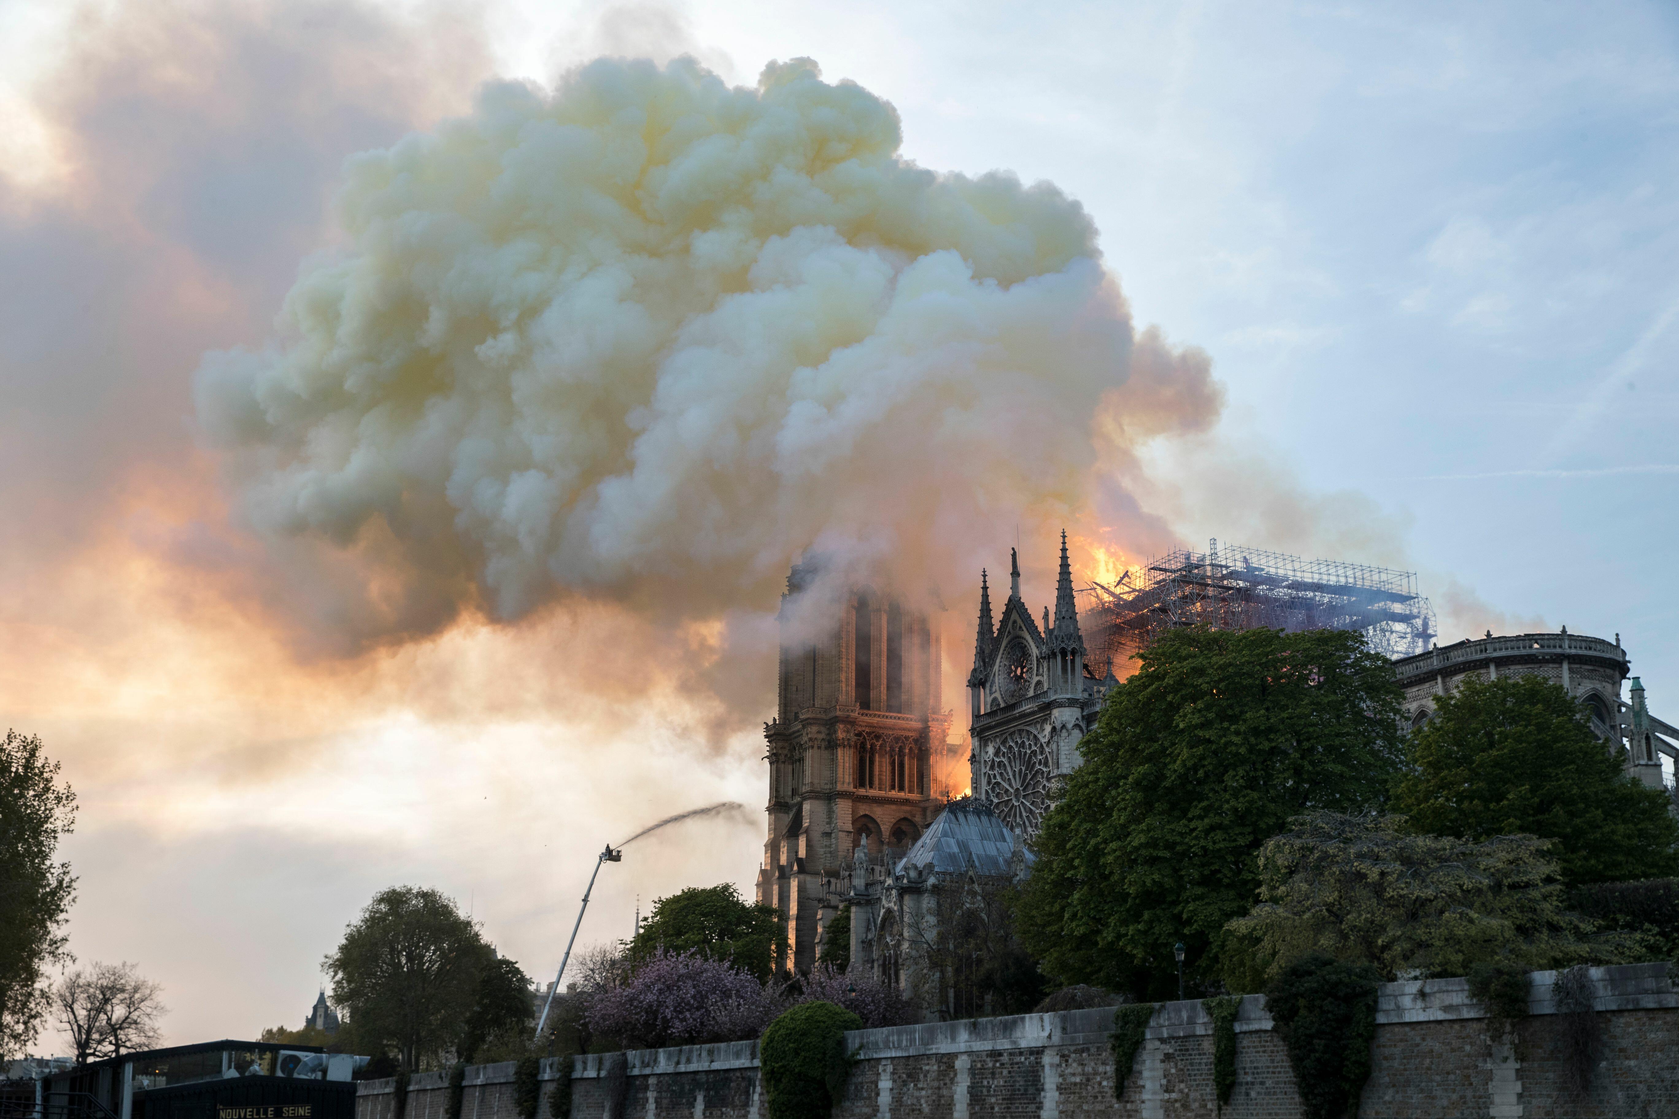
<instances>
[{"instance_id":1,"label":"dark ivy mass draping over the quay wall below the pale olive tree","mask_svg":"<svg viewBox=\"0 0 1679 1119\"><path fill-rule=\"evenodd\" d=\"M1358 1096L1370 1079L1380 981L1368 963L1311 955L1283 968L1264 993L1306 1119L1358 1114Z\"/></svg>"}]
</instances>

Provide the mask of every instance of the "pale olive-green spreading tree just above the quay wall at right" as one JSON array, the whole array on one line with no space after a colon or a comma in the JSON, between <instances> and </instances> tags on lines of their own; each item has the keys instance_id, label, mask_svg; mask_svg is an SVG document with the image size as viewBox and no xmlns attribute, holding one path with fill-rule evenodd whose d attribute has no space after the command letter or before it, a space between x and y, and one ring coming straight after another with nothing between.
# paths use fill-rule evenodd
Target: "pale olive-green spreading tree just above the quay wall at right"
<instances>
[{"instance_id":1,"label":"pale olive-green spreading tree just above the quay wall at right","mask_svg":"<svg viewBox=\"0 0 1679 1119\"><path fill-rule=\"evenodd\" d=\"M1263 901L1229 924L1226 983L1258 991L1310 955L1368 963L1389 980L1614 958L1620 945L1590 943L1590 921L1567 909L1548 846L1533 835L1419 835L1397 815L1310 812L1259 851Z\"/></svg>"}]
</instances>

